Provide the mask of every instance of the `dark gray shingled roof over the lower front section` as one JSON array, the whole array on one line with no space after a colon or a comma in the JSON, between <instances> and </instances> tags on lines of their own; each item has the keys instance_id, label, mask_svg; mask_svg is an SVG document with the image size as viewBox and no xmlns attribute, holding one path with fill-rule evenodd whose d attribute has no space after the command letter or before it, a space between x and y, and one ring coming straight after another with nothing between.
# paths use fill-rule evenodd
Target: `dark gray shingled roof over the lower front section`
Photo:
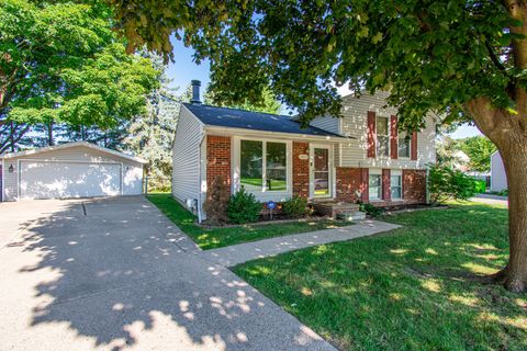
<instances>
[{"instance_id":1,"label":"dark gray shingled roof over the lower front section","mask_svg":"<svg viewBox=\"0 0 527 351\"><path fill-rule=\"evenodd\" d=\"M314 126L302 125L290 116L251 112L246 110L216 107L204 104L183 103L203 124L227 128L242 128L288 134L343 137Z\"/></svg>"}]
</instances>

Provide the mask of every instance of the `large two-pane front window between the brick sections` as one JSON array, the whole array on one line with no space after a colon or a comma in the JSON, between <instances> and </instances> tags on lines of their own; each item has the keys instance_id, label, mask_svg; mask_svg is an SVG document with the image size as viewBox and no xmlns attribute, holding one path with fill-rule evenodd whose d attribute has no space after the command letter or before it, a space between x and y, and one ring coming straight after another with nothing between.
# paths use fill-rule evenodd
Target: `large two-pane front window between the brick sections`
<instances>
[{"instance_id":1,"label":"large two-pane front window between the brick sections","mask_svg":"<svg viewBox=\"0 0 527 351\"><path fill-rule=\"evenodd\" d=\"M287 144L240 141L240 184L248 191L287 191Z\"/></svg>"}]
</instances>

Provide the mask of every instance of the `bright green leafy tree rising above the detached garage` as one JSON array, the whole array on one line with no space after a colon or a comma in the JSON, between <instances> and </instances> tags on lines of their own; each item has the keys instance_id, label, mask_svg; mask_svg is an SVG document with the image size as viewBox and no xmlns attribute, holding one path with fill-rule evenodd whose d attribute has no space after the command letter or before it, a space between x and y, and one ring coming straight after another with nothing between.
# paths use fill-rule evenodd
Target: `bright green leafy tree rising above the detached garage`
<instances>
[{"instance_id":1,"label":"bright green leafy tree rising above the detached garage","mask_svg":"<svg viewBox=\"0 0 527 351\"><path fill-rule=\"evenodd\" d=\"M141 113L158 72L125 53L102 2L4 0L0 4L0 152L32 125L111 129ZM4 133L3 133L4 132Z\"/></svg>"}]
</instances>

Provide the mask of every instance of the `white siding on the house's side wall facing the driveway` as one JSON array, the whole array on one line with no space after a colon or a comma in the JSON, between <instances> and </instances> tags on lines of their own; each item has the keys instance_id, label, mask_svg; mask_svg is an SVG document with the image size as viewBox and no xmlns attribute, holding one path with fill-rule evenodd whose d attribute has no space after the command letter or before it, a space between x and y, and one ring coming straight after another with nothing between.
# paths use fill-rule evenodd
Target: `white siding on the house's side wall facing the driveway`
<instances>
[{"instance_id":1,"label":"white siding on the house's side wall facing the driveway","mask_svg":"<svg viewBox=\"0 0 527 351\"><path fill-rule=\"evenodd\" d=\"M200 197L200 143L203 127L200 121L181 105L172 151L172 196L184 203Z\"/></svg>"}]
</instances>

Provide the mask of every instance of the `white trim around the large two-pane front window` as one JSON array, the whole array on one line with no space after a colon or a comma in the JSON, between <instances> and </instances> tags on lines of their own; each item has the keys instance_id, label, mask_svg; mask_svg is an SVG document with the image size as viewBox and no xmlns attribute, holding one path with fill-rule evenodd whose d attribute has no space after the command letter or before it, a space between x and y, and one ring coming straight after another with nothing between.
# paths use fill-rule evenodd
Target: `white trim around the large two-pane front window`
<instances>
[{"instance_id":1,"label":"white trim around the large two-pane front window","mask_svg":"<svg viewBox=\"0 0 527 351\"><path fill-rule=\"evenodd\" d=\"M236 193L242 188L240 184L240 176L242 176L242 140L250 140L250 141L261 141L262 145L262 186L261 191L248 190L247 192L254 194L257 200L259 201L281 201L291 197L292 194L292 174L293 174L293 162L292 162L292 141L291 140L283 140L283 139L274 139L274 138L256 138L256 137L245 137L245 136L234 136L233 137L233 149L232 149L232 174L233 174L233 183L232 183L232 191ZM266 189L266 151L267 151L267 144L266 143L281 143L285 144L285 191L267 191Z\"/></svg>"}]
</instances>

